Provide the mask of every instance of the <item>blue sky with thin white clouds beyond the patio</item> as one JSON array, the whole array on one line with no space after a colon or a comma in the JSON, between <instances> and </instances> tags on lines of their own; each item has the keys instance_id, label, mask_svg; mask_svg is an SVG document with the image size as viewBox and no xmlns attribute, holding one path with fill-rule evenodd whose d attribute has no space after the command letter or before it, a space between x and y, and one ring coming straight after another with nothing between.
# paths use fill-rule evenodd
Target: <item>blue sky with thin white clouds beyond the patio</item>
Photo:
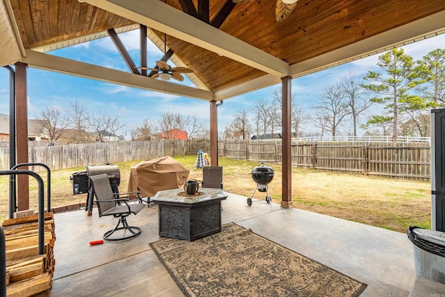
<instances>
[{"instance_id":1,"label":"blue sky with thin white clouds beyond the patio","mask_svg":"<svg viewBox=\"0 0 445 297\"><path fill-rule=\"evenodd\" d=\"M122 33L120 38L137 64L139 61L139 32L136 30ZM151 42L148 43L148 64L154 65L154 62L161 58L162 53ZM406 54L413 56L414 59L420 59L429 51L444 47L445 34L442 34L434 38L414 42L403 48ZM127 65L125 65L110 38L102 38L66 49L59 49L51 52L51 54L128 71ZM292 92L296 93L298 104L301 104L310 113L325 86L339 82L342 77L348 76L349 73L363 77L369 70L378 70L375 65L378 56L370 56L309 74L306 77L293 79ZM38 118L40 112L47 109L47 106L67 108L70 106L70 102L78 100L87 102L92 109L101 109L108 115L114 116L120 113L122 120L127 122L129 130L141 125L145 118L154 122L161 113L168 111L195 115L202 121L209 121L209 102L199 99L129 88L33 68L29 68L28 83L29 118ZM192 83L187 79L184 83L192 86ZM280 85L270 86L225 100L224 104L218 107L218 130L222 132L226 124L232 122L233 114L241 107L249 108L258 99L272 99L275 88L280 88ZM0 113L9 113L8 91L9 72L2 68L0 70ZM309 125L306 129L310 129ZM352 127L343 127L342 129L343 132L350 130L352 130ZM128 133L128 137L129 135Z\"/></svg>"}]
</instances>

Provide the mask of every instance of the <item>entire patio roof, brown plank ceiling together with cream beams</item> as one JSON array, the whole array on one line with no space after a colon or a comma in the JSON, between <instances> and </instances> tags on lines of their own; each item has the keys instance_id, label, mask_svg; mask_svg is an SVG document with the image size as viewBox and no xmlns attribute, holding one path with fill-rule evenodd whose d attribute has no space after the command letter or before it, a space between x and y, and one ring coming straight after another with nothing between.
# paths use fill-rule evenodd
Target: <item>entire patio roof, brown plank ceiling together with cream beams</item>
<instances>
[{"instance_id":1,"label":"entire patio roof, brown plank ceiling together with cream beams","mask_svg":"<svg viewBox=\"0 0 445 297\"><path fill-rule=\"evenodd\" d=\"M164 3L165 2L165 3ZM442 0L299 0L275 18L276 1L1 0L0 65L29 67L147 90L224 100L445 32ZM193 70L197 88L45 54L147 26L147 35ZM150 63L151 62L151 63ZM150 61L148 67L154 67ZM140 66L138 61L136 65Z\"/></svg>"}]
</instances>

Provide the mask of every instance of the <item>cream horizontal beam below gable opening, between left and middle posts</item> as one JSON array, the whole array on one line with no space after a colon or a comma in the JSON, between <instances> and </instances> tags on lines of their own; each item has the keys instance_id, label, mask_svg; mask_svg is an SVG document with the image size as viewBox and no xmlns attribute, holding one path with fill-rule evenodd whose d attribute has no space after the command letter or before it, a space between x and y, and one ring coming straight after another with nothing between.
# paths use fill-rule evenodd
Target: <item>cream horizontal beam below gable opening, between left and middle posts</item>
<instances>
[{"instance_id":1,"label":"cream horizontal beam below gable opening, between left and middle posts","mask_svg":"<svg viewBox=\"0 0 445 297\"><path fill-rule=\"evenodd\" d=\"M118 85L129 86L132 88L152 90L161 93L202 99L205 101L214 100L213 93L208 90L200 90L198 88L191 88L177 83L170 83L168 81L150 79L149 77L144 77L142 75L74 61L50 54L43 54L30 49L25 49L25 51L26 57L22 58L22 62L28 64L29 67L74 75L76 77L84 77L86 79L116 83Z\"/></svg>"}]
</instances>

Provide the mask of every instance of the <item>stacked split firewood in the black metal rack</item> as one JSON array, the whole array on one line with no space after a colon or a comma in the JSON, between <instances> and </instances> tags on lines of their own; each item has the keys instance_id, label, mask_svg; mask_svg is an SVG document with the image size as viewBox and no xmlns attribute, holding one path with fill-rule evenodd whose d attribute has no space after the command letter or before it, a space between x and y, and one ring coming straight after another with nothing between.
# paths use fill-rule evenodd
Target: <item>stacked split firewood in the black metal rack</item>
<instances>
[{"instance_id":1,"label":"stacked split firewood in the black metal rack","mask_svg":"<svg viewBox=\"0 0 445 297\"><path fill-rule=\"evenodd\" d=\"M44 215L44 255L38 255L38 215L4 220L6 294L50 296L54 273L54 216Z\"/></svg>"}]
</instances>

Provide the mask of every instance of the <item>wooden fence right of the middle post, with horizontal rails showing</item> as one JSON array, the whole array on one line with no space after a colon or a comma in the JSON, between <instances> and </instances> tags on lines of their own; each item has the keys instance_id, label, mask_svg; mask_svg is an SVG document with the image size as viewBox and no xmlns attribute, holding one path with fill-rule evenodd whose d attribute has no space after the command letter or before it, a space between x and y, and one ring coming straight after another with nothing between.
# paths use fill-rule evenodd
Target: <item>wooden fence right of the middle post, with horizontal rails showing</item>
<instances>
[{"instance_id":1,"label":"wooden fence right of the middle post, with horizontal rails showing","mask_svg":"<svg viewBox=\"0 0 445 297\"><path fill-rule=\"evenodd\" d=\"M281 163L281 140L222 141L218 154L232 159ZM430 144L305 143L293 141L292 166L363 175L430 179Z\"/></svg>"}]
</instances>

